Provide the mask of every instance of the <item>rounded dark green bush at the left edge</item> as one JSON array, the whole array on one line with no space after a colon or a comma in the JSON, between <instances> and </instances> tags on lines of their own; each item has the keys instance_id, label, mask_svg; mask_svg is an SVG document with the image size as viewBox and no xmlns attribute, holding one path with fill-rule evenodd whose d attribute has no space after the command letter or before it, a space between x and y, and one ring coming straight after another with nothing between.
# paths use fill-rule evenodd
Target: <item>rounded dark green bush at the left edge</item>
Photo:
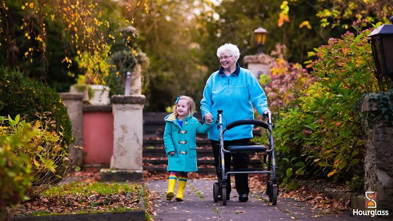
<instances>
[{"instance_id":1,"label":"rounded dark green bush at the left edge","mask_svg":"<svg viewBox=\"0 0 393 221\"><path fill-rule=\"evenodd\" d=\"M48 112L47 117L56 121L49 130L63 131L63 141L72 143L71 120L60 95L41 82L29 80L19 70L0 67L0 116L15 118L20 114L26 117L26 122L32 122L37 112Z\"/></svg>"}]
</instances>

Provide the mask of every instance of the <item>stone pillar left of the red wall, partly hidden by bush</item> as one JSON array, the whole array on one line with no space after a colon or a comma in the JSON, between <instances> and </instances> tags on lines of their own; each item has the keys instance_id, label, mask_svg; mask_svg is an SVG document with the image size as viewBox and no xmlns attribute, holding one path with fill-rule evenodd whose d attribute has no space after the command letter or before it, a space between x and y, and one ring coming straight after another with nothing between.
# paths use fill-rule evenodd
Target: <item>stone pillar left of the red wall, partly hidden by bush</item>
<instances>
[{"instance_id":1,"label":"stone pillar left of the red wall, partly hidden by bush","mask_svg":"<svg viewBox=\"0 0 393 221\"><path fill-rule=\"evenodd\" d=\"M67 107L68 115L72 122L72 135L76 137L74 143L69 144L69 158L75 163L83 164L83 149L73 148L83 146L83 98L84 93L60 93L61 100Z\"/></svg>"}]
</instances>

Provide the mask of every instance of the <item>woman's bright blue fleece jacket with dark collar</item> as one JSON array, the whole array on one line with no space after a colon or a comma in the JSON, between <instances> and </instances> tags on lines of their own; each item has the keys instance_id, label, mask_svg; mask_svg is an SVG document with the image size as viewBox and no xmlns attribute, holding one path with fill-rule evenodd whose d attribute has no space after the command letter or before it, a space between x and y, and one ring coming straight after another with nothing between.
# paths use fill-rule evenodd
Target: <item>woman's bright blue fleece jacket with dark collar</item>
<instances>
[{"instance_id":1,"label":"woman's bright blue fleece jacket with dark collar","mask_svg":"<svg viewBox=\"0 0 393 221\"><path fill-rule=\"evenodd\" d=\"M254 119L253 105L262 114L269 110L267 98L260 84L250 70L241 68L236 63L236 71L225 75L224 68L210 75L203 90L200 101L202 116L210 112L217 115L217 110L223 110L223 128L236 120ZM209 139L219 140L220 131L213 127L208 132ZM253 125L242 125L228 130L224 140L234 140L253 137Z\"/></svg>"}]
</instances>

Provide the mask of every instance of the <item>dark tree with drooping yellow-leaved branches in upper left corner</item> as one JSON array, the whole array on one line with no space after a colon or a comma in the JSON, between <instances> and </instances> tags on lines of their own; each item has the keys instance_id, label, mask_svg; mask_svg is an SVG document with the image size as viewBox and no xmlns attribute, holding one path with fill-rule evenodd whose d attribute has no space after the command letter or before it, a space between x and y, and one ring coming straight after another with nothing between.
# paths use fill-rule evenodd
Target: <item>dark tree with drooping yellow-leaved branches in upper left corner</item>
<instances>
[{"instance_id":1,"label":"dark tree with drooping yellow-leaved branches in upper left corner","mask_svg":"<svg viewBox=\"0 0 393 221\"><path fill-rule=\"evenodd\" d=\"M111 47L119 44L116 38L121 38L121 29L133 24L133 13L140 11L148 13L146 2L1 0L1 63L19 67L31 77L47 73L49 79L60 66L61 77L67 78L64 73L69 68L76 72L78 67L72 57L86 52L92 67L97 67L100 59L108 59Z\"/></svg>"}]
</instances>

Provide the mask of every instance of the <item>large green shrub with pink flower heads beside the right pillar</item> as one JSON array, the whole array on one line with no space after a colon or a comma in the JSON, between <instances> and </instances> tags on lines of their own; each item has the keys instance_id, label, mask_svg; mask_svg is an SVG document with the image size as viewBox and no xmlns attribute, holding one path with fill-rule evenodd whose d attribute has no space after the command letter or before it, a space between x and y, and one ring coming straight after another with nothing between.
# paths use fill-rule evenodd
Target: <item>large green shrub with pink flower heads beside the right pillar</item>
<instances>
[{"instance_id":1,"label":"large green shrub with pink flower heads beside the right pillar","mask_svg":"<svg viewBox=\"0 0 393 221\"><path fill-rule=\"evenodd\" d=\"M317 81L299 98L300 107L276 124L277 149L291 154L284 178L288 188L296 188L290 181L302 174L341 182L364 177L365 131L354 106L363 94L386 89L374 77L370 30L360 31L364 26L358 21L357 36L347 32L315 50L319 58L311 66Z\"/></svg>"}]
</instances>

